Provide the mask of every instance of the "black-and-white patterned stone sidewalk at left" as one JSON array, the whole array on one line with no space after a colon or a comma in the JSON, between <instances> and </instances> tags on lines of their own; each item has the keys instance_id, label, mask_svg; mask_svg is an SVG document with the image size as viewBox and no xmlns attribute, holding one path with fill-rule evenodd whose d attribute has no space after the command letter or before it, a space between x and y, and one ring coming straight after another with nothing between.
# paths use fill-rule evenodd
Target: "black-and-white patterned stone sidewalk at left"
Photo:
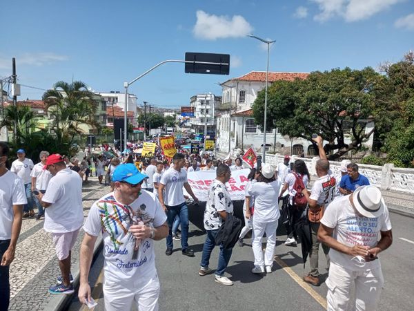
<instances>
[{"instance_id":1,"label":"black-and-white patterned stone sidewalk at left","mask_svg":"<svg viewBox=\"0 0 414 311\"><path fill-rule=\"evenodd\" d=\"M96 177L90 178L82 189L83 215L87 216L92 202L109 191L109 187L99 185ZM56 284L61 273L52 238L43 230L43 223L44 220L23 219L16 254L10 265L9 310L46 310L50 301L55 302L62 296L48 293L48 288ZM72 249L72 274L78 270L83 234L81 230Z\"/></svg>"}]
</instances>

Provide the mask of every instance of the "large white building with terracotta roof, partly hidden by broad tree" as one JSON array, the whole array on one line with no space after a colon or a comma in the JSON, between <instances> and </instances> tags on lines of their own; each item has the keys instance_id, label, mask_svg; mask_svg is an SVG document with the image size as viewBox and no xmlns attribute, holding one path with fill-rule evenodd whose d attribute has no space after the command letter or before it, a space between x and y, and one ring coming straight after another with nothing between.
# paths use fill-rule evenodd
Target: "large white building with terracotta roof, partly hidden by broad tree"
<instances>
[{"instance_id":1,"label":"large white building with terracotta roof, partly hidden by broad tree","mask_svg":"<svg viewBox=\"0 0 414 311\"><path fill-rule=\"evenodd\" d=\"M308 73L270 72L268 86L277 80L306 79L308 75ZM252 145L257 151L262 150L264 133L255 123L252 105L257 98L257 93L264 89L265 83L266 72L251 71L242 77L229 79L221 84L222 104L217 108L221 111L220 115L217 115L217 145L220 151L228 152L233 149L246 151ZM371 131L372 128L372 122L366 124L366 132ZM372 140L373 135L365 145L372 147ZM307 156L316 154L313 144L308 140L281 135L277 129L266 132L266 149L282 154L298 154L302 150Z\"/></svg>"}]
</instances>

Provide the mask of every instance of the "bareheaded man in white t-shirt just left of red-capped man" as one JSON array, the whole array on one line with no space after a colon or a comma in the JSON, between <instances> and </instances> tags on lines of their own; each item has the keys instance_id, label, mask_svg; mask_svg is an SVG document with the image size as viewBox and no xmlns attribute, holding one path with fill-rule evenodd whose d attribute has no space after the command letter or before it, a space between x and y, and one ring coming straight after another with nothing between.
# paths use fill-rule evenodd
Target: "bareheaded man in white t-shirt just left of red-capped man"
<instances>
[{"instance_id":1,"label":"bareheaded man in white t-shirt just left of red-capped man","mask_svg":"<svg viewBox=\"0 0 414 311\"><path fill-rule=\"evenodd\" d=\"M47 169L43 169L43 167L46 165L46 159L48 156L48 151L40 151L40 162L34 165L32 173L30 173L30 177L32 178L32 193L33 191L37 190L44 194L48 188L48 183L50 178L52 178L52 174ZM36 220L40 220L41 217L45 216L45 211L37 199L36 194L34 194L33 198L34 203L37 206Z\"/></svg>"}]
</instances>

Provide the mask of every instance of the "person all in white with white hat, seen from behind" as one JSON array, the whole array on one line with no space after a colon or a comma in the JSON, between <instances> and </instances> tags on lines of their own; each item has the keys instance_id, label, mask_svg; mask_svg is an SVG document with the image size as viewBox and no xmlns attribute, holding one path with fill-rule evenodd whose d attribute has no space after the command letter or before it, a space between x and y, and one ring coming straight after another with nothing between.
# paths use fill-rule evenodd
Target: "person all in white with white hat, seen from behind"
<instances>
[{"instance_id":1,"label":"person all in white with white hat, seen from behind","mask_svg":"<svg viewBox=\"0 0 414 311\"><path fill-rule=\"evenodd\" d=\"M280 182L275 179L275 169L268 163L263 164L259 181L255 182L248 190L250 196L255 196L252 243L253 254L255 255L255 267L252 270L253 273L272 272L277 220L280 217L277 200L279 190ZM262 238L265 233L267 243L266 251L263 254Z\"/></svg>"}]
</instances>

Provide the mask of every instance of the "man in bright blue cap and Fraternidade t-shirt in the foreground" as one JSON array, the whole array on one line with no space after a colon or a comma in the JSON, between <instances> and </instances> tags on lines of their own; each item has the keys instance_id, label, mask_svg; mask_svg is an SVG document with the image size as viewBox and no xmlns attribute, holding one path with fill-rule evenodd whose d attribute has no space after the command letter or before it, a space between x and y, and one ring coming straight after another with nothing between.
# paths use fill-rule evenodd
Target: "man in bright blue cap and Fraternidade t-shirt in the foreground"
<instances>
[{"instance_id":1,"label":"man in bright blue cap and Fraternidade t-shirt in the foreground","mask_svg":"<svg viewBox=\"0 0 414 311\"><path fill-rule=\"evenodd\" d=\"M97 236L103 234L103 297L105 309L158 310L159 280L155 243L168 234L166 214L149 191L146 175L134 164L120 164L112 175L115 191L93 203L83 230L80 255L81 303L90 301L88 274Z\"/></svg>"}]
</instances>

